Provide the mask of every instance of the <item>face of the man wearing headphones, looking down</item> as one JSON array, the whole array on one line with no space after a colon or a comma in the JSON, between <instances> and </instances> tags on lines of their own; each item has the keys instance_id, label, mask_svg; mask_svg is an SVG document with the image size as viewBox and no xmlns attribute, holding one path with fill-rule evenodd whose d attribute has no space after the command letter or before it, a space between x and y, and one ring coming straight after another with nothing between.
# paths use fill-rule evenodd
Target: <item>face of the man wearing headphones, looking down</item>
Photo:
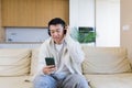
<instances>
[{"instance_id":1,"label":"face of the man wearing headphones, looking down","mask_svg":"<svg viewBox=\"0 0 132 88\"><path fill-rule=\"evenodd\" d=\"M56 44L62 44L64 38L64 28L62 24L50 25L50 33Z\"/></svg>"}]
</instances>

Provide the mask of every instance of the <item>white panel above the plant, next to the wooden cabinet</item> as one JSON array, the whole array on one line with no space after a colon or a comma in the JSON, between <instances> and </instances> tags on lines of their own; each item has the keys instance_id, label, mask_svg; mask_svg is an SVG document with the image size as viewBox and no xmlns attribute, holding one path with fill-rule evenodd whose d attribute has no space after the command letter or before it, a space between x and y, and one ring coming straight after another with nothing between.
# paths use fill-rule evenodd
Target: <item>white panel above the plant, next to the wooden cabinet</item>
<instances>
[{"instance_id":1,"label":"white panel above the plant, next to the wooden cabinet","mask_svg":"<svg viewBox=\"0 0 132 88\"><path fill-rule=\"evenodd\" d=\"M95 0L69 0L69 25L95 28Z\"/></svg>"}]
</instances>

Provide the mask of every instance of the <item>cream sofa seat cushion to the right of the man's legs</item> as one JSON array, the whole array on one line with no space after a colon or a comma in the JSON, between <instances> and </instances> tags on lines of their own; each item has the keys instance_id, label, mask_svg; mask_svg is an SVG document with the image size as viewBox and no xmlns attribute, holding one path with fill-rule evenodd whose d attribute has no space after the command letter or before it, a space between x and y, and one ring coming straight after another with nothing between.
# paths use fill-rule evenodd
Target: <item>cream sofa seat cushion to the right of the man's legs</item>
<instances>
[{"instance_id":1,"label":"cream sofa seat cushion to the right of the man's legs","mask_svg":"<svg viewBox=\"0 0 132 88\"><path fill-rule=\"evenodd\" d=\"M132 73L85 76L92 88L132 88Z\"/></svg>"}]
</instances>

